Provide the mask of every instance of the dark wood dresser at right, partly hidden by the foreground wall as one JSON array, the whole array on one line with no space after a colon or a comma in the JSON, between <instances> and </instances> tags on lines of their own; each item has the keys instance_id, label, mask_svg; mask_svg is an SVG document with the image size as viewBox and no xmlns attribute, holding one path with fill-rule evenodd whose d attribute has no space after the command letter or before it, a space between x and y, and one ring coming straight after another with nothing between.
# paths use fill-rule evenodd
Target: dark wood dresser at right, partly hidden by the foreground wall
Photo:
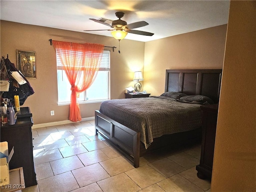
<instances>
[{"instance_id":1,"label":"dark wood dresser at right, partly hidden by the foreground wall","mask_svg":"<svg viewBox=\"0 0 256 192\"><path fill-rule=\"evenodd\" d=\"M202 110L202 146L200 164L196 166L200 179L212 178L212 164L218 117L218 104L200 106Z\"/></svg>"}]
</instances>

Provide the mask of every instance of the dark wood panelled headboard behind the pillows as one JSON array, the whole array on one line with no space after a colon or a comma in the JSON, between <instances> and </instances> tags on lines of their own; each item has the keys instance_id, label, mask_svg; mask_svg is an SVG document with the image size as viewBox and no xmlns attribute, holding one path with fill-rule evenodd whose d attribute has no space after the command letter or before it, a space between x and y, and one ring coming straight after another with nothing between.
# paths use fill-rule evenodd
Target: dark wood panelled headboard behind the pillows
<instances>
[{"instance_id":1,"label":"dark wood panelled headboard behind the pillows","mask_svg":"<svg viewBox=\"0 0 256 192\"><path fill-rule=\"evenodd\" d=\"M222 69L166 70L165 92L204 95L218 103L221 76Z\"/></svg>"}]
</instances>

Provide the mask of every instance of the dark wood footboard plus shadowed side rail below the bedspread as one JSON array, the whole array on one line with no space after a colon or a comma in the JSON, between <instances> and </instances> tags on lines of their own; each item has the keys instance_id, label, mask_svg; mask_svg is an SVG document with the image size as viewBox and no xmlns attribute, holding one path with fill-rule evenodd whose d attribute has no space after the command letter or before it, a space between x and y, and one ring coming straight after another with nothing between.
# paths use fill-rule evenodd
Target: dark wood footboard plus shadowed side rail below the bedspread
<instances>
[{"instance_id":1,"label":"dark wood footboard plus shadowed side rail below the bedspread","mask_svg":"<svg viewBox=\"0 0 256 192\"><path fill-rule=\"evenodd\" d=\"M180 146L190 146L202 140L202 128L199 127L195 130L154 138L154 142L145 149L140 141L140 132L131 130L98 110L95 111L95 134L100 134L107 142L110 142L135 168L140 166L140 156L147 152L160 148L166 149L166 147L171 150Z\"/></svg>"}]
</instances>

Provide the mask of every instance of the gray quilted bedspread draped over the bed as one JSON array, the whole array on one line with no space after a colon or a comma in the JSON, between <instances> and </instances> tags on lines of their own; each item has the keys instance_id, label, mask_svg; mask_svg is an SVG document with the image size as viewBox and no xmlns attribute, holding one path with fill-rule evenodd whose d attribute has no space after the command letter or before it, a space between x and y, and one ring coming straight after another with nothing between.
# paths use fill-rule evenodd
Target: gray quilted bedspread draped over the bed
<instances>
[{"instance_id":1,"label":"gray quilted bedspread draped over the bed","mask_svg":"<svg viewBox=\"0 0 256 192\"><path fill-rule=\"evenodd\" d=\"M145 148L153 138L193 130L202 124L200 104L178 102L164 96L108 100L102 102L100 112L140 132Z\"/></svg>"}]
</instances>

